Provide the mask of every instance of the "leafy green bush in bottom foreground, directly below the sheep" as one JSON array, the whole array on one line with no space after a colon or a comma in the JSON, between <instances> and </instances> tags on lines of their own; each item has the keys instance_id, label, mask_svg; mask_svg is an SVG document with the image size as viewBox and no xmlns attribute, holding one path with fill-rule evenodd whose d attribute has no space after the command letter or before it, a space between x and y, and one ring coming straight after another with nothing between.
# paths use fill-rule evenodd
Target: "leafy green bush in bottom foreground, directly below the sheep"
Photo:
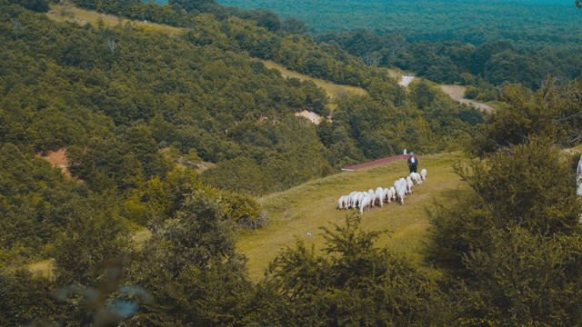
<instances>
[{"instance_id":1,"label":"leafy green bush in bottom foreground, directly below the sheep","mask_svg":"<svg viewBox=\"0 0 582 327\"><path fill-rule=\"evenodd\" d=\"M353 216L346 217L345 225L322 230L326 239L324 254L317 255L313 246L297 241L295 249L287 248L269 265L266 281L282 296L282 300L276 300L285 303L282 316L287 324L451 322L436 283L406 259L386 248L376 248L374 243L381 232L362 231L360 219ZM277 304L266 308L274 305Z\"/></svg>"}]
</instances>

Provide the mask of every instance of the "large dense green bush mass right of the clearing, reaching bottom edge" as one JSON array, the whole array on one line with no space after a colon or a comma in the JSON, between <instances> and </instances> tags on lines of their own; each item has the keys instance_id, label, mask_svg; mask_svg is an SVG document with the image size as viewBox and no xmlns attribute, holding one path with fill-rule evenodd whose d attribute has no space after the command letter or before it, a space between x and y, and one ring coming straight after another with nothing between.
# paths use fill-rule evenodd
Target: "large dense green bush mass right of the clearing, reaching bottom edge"
<instances>
[{"instance_id":1,"label":"large dense green bush mass right of the clearing, reaching bottom edge","mask_svg":"<svg viewBox=\"0 0 582 327\"><path fill-rule=\"evenodd\" d=\"M467 189L429 214L427 258L450 278L459 323L580 319L582 208L571 163L551 144L532 139L458 165Z\"/></svg>"}]
</instances>

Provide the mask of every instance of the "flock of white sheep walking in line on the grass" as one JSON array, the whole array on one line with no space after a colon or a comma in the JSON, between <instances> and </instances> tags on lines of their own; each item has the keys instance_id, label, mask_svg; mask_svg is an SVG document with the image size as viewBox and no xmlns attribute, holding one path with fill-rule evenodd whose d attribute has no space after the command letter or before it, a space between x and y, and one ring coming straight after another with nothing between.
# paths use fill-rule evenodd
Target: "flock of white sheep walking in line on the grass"
<instances>
[{"instance_id":1,"label":"flock of white sheep walking in line on the grass","mask_svg":"<svg viewBox=\"0 0 582 327\"><path fill-rule=\"evenodd\" d=\"M390 188L378 187L376 191L373 189L367 192L352 192L349 195L342 195L337 200L338 208L342 209L357 209L360 214L368 211L374 205L384 207L384 203L399 202L404 204L406 195L412 194L412 188L426 181L426 169L420 173L410 173L406 178L397 179L394 186Z\"/></svg>"}]
</instances>

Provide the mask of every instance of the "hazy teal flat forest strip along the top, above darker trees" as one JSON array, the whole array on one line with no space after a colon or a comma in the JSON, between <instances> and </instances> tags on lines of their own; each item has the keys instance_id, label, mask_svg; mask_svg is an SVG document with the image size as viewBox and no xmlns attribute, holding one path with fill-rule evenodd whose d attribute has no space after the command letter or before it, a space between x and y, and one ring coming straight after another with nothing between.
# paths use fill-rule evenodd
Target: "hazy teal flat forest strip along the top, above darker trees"
<instances>
[{"instance_id":1,"label":"hazy teal flat forest strip along the top, above darker trees","mask_svg":"<svg viewBox=\"0 0 582 327\"><path fill-rule=\"evenodd\" d=\"M475 44L499 38L514 39L512 35L520 39L543 40L547 35L576 35L576 28L580 26L580 13L574 10L574 0L218 2L245 10L268 9L284 18L296 17L316 33L386 29L404 32L412 41L456 40ZM561 43L557 38L547 38L546 42Z\"/></svg>"}]
</instances>

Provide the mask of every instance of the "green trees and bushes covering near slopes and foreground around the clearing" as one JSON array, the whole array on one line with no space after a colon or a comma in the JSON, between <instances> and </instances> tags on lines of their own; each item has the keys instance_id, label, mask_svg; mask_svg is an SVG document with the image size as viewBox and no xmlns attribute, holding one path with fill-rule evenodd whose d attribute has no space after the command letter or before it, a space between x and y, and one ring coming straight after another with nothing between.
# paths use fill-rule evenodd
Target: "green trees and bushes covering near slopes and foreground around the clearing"
<instances>
[{"instance_id":1,"label":"green trees and bushes covering near slopes and foreground around the clearing","mask_svg":"<svg viewBox=\"0 0 582 327\"><path fill-rule=\"evenodd\" d=\"M74 3L183 32L56 23L43 0L0 0L0 325L582 321L577 158L560 152L582 140L579 80L504 80L486 115L423 79L405 90L266 10ZM330 105L262 59L367 94ZM331 122L296 117L303 110ZM324 229L322 252L298 241L249 279L235 242L267 223L256 196L411 144L473 158L455 168L467 187L429 213L425 266L347 217ZM72 178L36 157L62 148ZM216 166L200 173L201 161ZM143 229L152 236L136 242ZM23 268L48 258L48 274Z\"/></svg>"}]
</instances>

